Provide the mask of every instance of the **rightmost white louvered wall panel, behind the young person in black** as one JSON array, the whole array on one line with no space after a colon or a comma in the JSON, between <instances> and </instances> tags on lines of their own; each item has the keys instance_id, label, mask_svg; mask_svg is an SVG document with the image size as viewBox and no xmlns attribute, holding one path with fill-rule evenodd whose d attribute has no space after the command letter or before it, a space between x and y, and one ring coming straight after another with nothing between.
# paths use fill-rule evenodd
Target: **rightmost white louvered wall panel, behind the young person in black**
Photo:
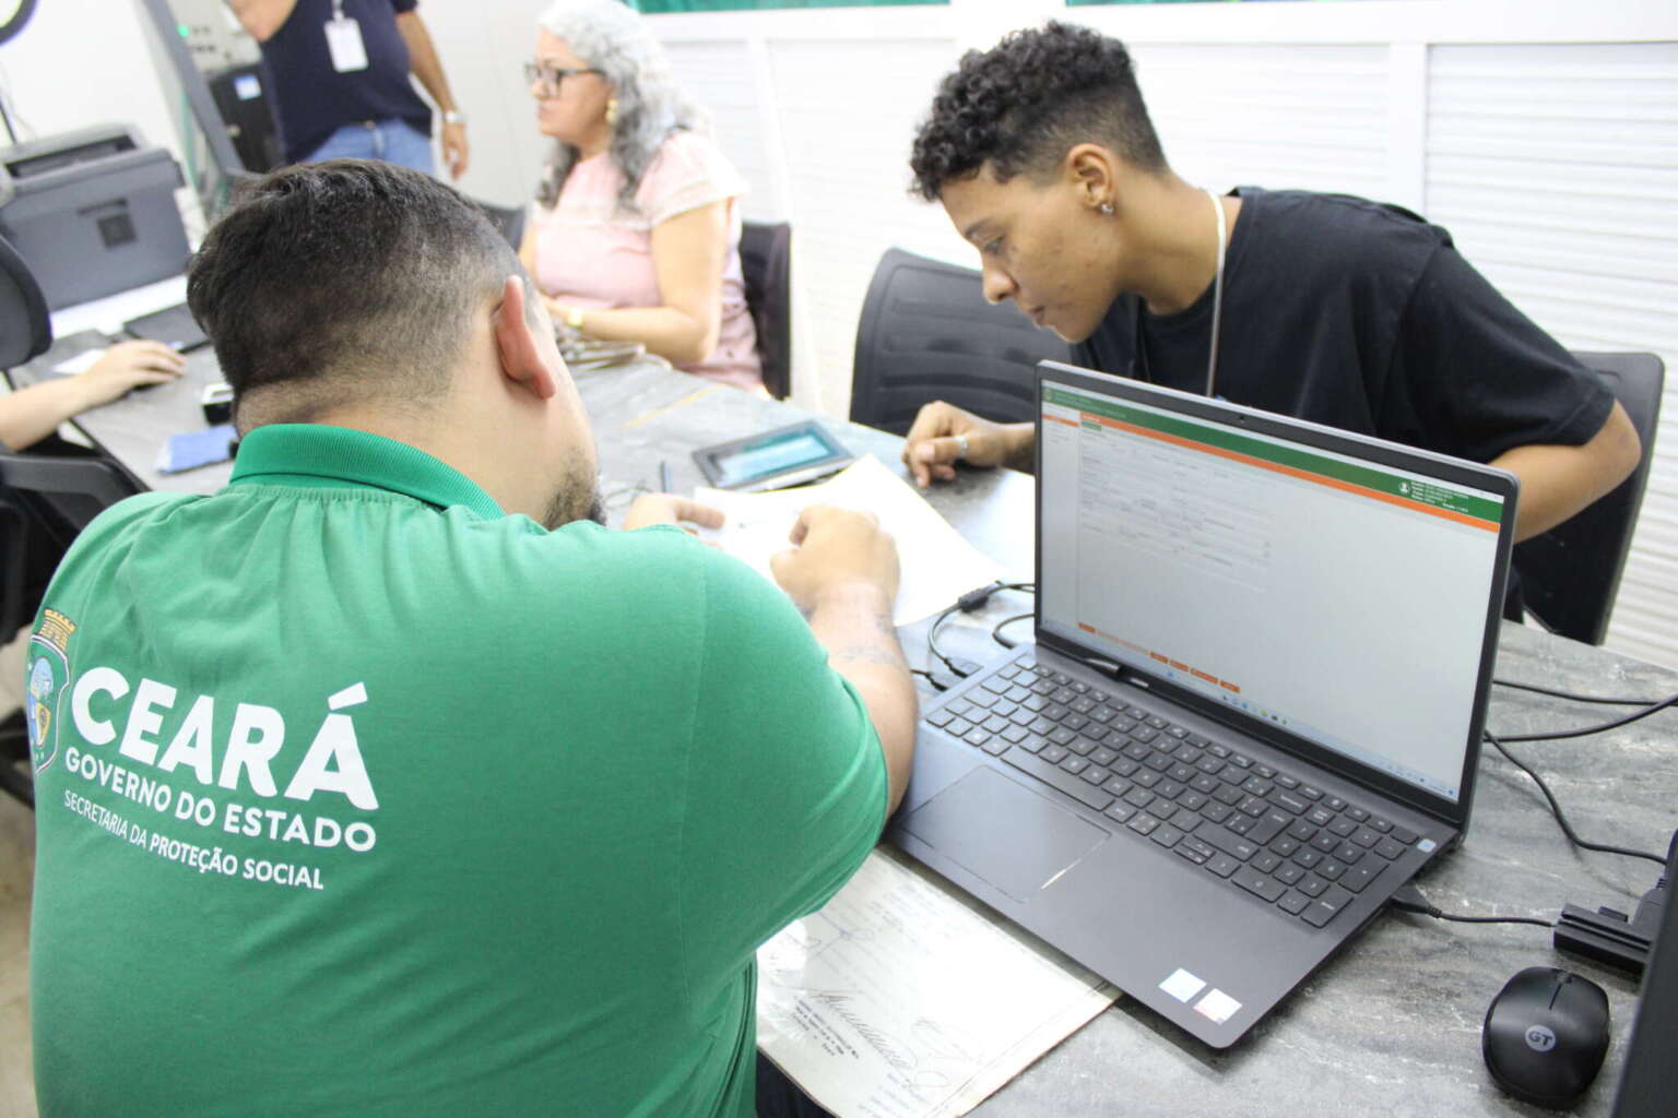
<instances>
[{"instance_id":1,"label":"rightmost white louvered wall panel, behind the young person in black","mask_svg":"<svg viewBox=\"0 0 1678 1118\"><path fill-rule=\"evenodd\" d=\"M1678 664L1678 44L1433 47L1426 211L1564 345L1666 362L1609 647Z\"/></svg>"}]
</instances>

